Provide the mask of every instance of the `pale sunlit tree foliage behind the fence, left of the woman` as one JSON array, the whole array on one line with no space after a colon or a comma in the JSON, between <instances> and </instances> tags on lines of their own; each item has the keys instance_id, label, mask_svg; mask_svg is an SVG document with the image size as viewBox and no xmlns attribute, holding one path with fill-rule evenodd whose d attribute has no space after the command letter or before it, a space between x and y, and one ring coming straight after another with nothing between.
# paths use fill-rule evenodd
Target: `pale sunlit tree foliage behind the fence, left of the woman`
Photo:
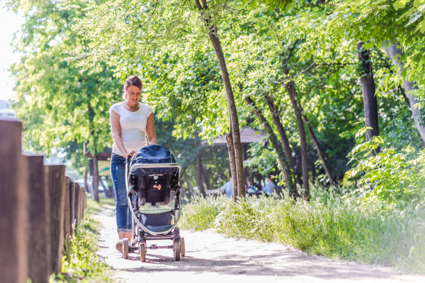
<instances>
[{"instance_id":1,"label":"pale sunlit tree foliage behind the fence, left of the woman","mask_svg":"<svg viewBox=\"0 0 425 283\"><path fill-rule=\"evenodd\" d=\"M22 57L11 68L12 107L24 125L25 147L49 154L88 142L92 153L103 151L110 145L108 108L119 100L121 84L104 62L88 70L67 61L83 40L70 26L85 17L85 1L26 1L21 8L26 22L14 42Z\"/></svg>"}]
</instances>

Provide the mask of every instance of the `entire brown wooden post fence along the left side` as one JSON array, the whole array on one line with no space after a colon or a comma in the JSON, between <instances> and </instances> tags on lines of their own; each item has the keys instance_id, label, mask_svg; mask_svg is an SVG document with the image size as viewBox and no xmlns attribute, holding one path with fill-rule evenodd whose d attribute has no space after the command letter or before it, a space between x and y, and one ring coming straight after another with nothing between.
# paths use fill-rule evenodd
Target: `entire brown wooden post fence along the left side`
<instances>
[{"instance_id":1,"label":"entire brown wooden post fence along the left side","mask_svg":"<svg viewBox=\"0 0 425 283\"><path fill-rule=\"evenodd\" d=\"M83 218L85 189L65 165L22 155L22 124L0 120L0 282L49 282Z\"/></svg>"}]
</instances>

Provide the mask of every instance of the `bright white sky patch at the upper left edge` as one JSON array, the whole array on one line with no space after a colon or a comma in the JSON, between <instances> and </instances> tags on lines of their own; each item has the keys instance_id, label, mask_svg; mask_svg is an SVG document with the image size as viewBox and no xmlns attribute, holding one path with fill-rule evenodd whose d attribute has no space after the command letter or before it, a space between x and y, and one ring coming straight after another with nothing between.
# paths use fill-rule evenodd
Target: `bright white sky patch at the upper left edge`
<instances>
[{"instance_id":1,"label":"bright white sky patch at the upper left edge","mask_svg":"<svg viewBox=\"0 0 425 283\"><path fill-rule=\"evenodd\" d=\"M12 52L13 33L19 30L24 23L22 16L8 11L0 4L0 100L8 100L15 97L12 91L14 82L8 71L13 62L19 61L19 55Z\"/></svg>"}]
</instances>

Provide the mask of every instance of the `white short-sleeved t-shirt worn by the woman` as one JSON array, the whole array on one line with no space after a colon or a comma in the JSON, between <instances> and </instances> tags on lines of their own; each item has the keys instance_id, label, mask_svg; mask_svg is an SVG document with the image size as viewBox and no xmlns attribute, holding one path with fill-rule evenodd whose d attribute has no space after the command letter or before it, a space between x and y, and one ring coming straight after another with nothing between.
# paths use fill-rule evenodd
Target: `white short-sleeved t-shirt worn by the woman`
<instances>
[{"instance_id":1,"label":"white short-sleeved t-shirt worn by the woman","mask_svg":"<svg viewBox=\"0 0 425 283\"><path fill-rule=\"evenodd\" d=\"M119 126L121 126L121 138L127 152L138 151L143 146L147 146L146 124L147 118L152 113L152 108L139 102L137 111L127 110L124 102L115 103L109 108L109 114L113 110L119 115ZM113 153L121 155L117 145L113 145Z\"/></svg>"}]
</instances>

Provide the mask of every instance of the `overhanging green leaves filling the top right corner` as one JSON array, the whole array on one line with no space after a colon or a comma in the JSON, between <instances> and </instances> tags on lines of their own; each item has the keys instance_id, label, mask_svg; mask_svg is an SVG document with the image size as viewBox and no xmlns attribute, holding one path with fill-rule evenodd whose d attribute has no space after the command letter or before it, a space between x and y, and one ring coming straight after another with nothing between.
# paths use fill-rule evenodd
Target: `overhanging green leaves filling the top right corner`
<instances>
[{"instance_id":1,"label":"overhanging green leaves filling the top right corner","mask_svg":"<svg viewBox=\"0 0 425 283\"><path fill-rule=\"evenodd\" d=\"M416 95L425 98L425 2L423 0L335 1L332 15L322 19L335 37L363 40L365 48L401 44L405 71L401 75L419 87ZM395 69L395 68L394 68ZM394 72L397 76L397 72Z\"/></svg>"}]
</instances>

